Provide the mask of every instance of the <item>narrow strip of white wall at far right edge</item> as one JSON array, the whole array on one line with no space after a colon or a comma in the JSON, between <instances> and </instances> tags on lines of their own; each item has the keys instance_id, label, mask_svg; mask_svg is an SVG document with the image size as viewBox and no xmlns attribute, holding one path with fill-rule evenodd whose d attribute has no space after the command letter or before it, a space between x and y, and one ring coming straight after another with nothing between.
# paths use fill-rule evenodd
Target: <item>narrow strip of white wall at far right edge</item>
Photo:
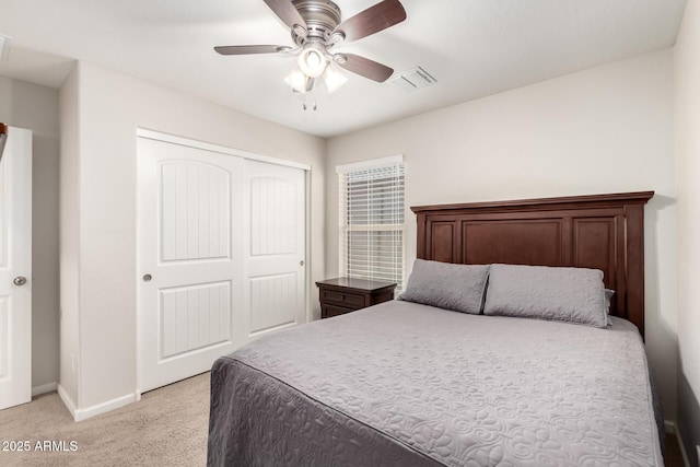
<instances>
[{"instance_id":1,"label":"narrow strip of white wall at far right edge","mask_svg":"<svg viewBox=\"0 0 700 467\"><path fill-rule=\"evenodd\" d=\"M691 466L700 445L700 1L675 47L678 173L678 427Z\"/></svg>"}]
</instances>

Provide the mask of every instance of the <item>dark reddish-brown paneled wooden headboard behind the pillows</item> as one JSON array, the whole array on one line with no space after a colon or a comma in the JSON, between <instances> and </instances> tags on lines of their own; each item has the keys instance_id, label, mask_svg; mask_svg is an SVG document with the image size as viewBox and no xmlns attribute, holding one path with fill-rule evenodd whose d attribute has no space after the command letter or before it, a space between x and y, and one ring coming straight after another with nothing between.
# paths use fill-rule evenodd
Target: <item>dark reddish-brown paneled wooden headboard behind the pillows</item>
<instances>
[{"instance_id":1,"label":"dark reddish-brown paneled wooden headboard behind the pillows","mask_svg":"<svg viewBox=\"0 0 700 467\"><path fill-rule=\"evenodd\" d=\"M419 206L417 257L600 269L610 314L644 335L644 205L654 191Z\"/></svg>"}]
</instances>

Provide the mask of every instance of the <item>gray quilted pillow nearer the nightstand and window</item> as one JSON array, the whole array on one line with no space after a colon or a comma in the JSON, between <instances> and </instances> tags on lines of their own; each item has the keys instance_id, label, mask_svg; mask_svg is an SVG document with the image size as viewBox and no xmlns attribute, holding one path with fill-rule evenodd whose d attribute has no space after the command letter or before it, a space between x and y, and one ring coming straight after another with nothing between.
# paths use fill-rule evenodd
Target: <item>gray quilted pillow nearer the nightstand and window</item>
<instances>
[{"instance_id":1,"label":"gray quilted pillow nearer the nightstand and window","mask_svg":"<svg viewBox=\"0 0 700 467\"><path fill-rule=\"evenodd\" d=\"M489 266L416 259L398 300L478 315L488 277Z\"/></svg>"}]
</instances>

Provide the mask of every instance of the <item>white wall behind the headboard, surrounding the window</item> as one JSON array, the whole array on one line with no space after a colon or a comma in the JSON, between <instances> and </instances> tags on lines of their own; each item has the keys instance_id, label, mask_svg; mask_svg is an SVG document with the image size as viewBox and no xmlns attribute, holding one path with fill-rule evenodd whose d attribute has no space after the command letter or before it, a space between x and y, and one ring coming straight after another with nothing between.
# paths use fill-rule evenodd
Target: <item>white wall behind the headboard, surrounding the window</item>
<instances>
[{"instance_id":1,"label":"white wall behind the headboard, surrounding the window","mask_svg":"<svg viewBox=\"0 0 700 467\"><path fill-rule=\"evenodd\" d=\"M330 139L326 275L338 273L339 164L405 154L408 206L655 190L645 210L646 343L675 420L673 84L667 49ZM407 220L410 268L408 210Z\"/></svg>"}]
</instances>

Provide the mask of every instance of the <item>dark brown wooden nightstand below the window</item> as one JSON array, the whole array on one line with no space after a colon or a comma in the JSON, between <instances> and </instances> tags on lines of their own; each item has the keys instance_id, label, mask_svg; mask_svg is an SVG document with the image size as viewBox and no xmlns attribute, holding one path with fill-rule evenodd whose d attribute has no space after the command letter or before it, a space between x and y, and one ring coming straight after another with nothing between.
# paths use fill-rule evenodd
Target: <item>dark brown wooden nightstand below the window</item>
<instances>
[{"instance_id":1,"label":"dark brown wooden nightstand below the window","mask_svg":"<svg viewBox=\"0 0 700 467\"><path fill-rule=\"evenodd\" d=\"M336 278L316 282L320 317L343 315L394 299L396 283L354 278Z\"/></svg>"}]
</instances>

